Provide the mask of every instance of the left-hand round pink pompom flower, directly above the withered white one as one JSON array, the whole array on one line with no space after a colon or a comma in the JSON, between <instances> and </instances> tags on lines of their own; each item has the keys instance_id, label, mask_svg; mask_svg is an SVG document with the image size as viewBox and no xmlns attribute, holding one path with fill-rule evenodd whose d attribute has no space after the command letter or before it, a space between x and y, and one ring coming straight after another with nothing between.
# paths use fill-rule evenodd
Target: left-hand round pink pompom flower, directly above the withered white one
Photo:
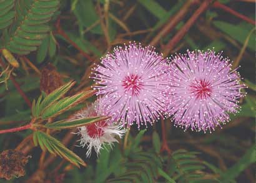
<instances>
[{"instance_id":1,"label":"left-hand round pink pompom flower, directly above the withered white one","mask_svg":"<svg viewBox=\"0 0 256 183\"><path fill-rule=\"evenodd\" d=\"M168 89L167 59L154 51L130 43L116 47L94 68L97 95L112 121L129 126L154 123L165 111Z\"/></svg>"}]
</instances>

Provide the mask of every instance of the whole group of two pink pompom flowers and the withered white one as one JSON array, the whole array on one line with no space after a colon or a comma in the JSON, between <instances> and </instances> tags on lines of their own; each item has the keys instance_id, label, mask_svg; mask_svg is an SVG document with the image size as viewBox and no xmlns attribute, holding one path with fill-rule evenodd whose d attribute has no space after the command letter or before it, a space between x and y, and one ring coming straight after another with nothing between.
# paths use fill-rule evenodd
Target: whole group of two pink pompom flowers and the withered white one
<instances>
[{"instance_id":1,"label":"whole group of two pink pompom flowers and the withered white one","mask_svg":"<svg viewBox=\"0 0 256 183\"><path fill-rule=\"evenodd\" d=\"M240 75L229 59L213 50L187 51L170 60L154 47L130 43L116 47L92 70L98 100L96 107L81 111L76 118L110 116L107 121L79 128L81 146L87 156L94 147L98 154L104 143L112 144L136 123L153 124L171 117L175 126L211 131L237 113L241 92Z\"/></svg>"}]
</instances>

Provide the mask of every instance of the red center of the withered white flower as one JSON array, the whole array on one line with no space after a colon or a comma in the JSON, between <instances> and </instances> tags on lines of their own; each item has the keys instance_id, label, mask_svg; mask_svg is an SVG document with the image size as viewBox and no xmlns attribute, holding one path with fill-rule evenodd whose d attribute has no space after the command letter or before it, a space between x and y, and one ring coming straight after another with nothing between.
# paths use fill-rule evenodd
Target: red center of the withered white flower
<instances>
[{"instance_id":1,"label":"red center of the withered white flower","mask_svg":"<svg viewBox=\"0 0 256 183\"><path fill-rule=\"evenodd\" d=\"M104 127L107 126L106 121L99 121L86 125L87 133L91 138L101 137L104 134Z\"/></svg>"}]
</instances>

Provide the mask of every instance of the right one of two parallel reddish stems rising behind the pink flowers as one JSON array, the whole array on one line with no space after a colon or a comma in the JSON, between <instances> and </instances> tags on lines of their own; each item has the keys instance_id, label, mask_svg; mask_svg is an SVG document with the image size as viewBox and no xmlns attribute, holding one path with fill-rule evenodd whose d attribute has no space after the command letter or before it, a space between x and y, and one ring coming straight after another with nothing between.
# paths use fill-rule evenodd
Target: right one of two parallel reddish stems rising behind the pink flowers
<instances>
[{"instance_id":1,"label":"right one of two parallel reddish stems rising behind the pink flowers","mask_svg":"<svg viewBox=\"0 0 256 183\"><path fill-rule=\"evenodd\" d=\"M174 37L165 45L164 55L168 55L170 50L174 49L175 45L184 37L184 35L189 31L190 27L195 24L195 21L199 18L199 16L207 10L212 0L205 0L202 2L200 7L192 14L190 19L185 22L184 26L174 35Z\"/></svg>"}]
</instances>

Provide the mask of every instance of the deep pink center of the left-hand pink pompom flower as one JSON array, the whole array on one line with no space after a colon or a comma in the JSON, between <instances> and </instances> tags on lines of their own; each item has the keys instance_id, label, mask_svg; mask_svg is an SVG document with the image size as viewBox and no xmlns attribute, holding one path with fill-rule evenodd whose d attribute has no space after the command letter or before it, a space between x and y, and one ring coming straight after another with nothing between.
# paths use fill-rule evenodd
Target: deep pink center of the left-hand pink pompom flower
<instances>
[{"instance_id":1,"label":"deep pink center of the left-hand pink pompom flower","mask_svg":"<svg viewBox=\"0 0 256 183\"><path fill-rule=\"evenodd\" d=\"M138 75L127 75L124 80L122 80L122 87L127 92L132 93L133 96L139 95L139 91L143 87L141 78Z\"/></svg>"}]
</instances>

